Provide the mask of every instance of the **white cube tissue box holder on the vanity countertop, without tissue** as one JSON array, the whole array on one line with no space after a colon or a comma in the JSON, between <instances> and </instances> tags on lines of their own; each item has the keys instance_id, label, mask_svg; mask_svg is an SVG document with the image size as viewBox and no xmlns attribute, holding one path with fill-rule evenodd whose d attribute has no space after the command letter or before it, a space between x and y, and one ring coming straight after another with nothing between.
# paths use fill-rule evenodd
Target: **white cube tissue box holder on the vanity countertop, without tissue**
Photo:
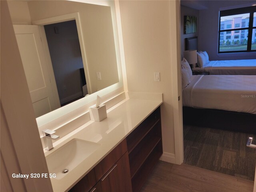
<instances>
[{"instance_id":1,"label":"white cube tissue box holder on the vanity countertop, without tissue","mask_svg":"<svg viewBox=\"0 0 256 192\"><path fill-rule=\"evenodd\" d=\"M98 108L91 106L89 108L90 118L92 121L100 122L107 118L106 105L101 104Z\"/></svg>"}]
</instances>

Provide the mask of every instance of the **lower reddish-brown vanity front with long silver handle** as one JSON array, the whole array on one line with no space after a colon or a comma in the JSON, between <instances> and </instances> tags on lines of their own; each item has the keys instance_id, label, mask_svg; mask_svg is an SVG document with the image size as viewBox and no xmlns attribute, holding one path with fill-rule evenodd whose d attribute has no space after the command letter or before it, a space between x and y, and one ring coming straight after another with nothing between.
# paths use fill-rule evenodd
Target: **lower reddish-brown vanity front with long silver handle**
<instances>
[{"instance_id":1,"label":"lower reddish-brown vanity front with long silver handle","mask_svg":"<svg viewBox=\"0 0 256 192\"><path fill-rule=\"evenodd\" d=\"M98 192L132 192L127 152L101 178L96 188Z\"/></svg>"}]
</instances>

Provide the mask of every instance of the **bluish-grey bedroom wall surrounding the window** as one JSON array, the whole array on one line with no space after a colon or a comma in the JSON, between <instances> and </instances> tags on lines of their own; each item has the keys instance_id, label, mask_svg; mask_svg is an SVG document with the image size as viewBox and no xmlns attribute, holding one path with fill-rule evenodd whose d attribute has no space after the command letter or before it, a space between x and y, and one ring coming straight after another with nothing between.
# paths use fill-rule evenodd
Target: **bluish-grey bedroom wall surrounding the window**
<instances>
[{"instance_id":1,"label":"bluish-grey bedroom wall surrounding the window","mask_svg":"<svg viewBox=\"0 0 256 192\"><path fill-rule=\"evenodd\" d=\"M252 4L253 2L256 3L256 1L211 0L201 2L204 4L207 3L208 8L199 11L198 50L206 50L209 54L210 60L255 59L255 53L235 53L218 55L218 24L220 8L232 9L232 6L249 3Z\"/></svg>"}]
</instances>

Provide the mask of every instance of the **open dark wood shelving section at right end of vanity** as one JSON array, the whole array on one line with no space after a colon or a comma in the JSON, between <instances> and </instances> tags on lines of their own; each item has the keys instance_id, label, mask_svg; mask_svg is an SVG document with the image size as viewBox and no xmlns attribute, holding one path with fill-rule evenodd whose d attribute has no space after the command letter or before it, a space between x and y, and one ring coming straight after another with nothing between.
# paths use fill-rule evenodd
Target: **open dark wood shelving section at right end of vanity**
<instances>
[{"instance_id":1,"label":"open dark wood shelving section at right end of vanity","mask_svg":"<svg viewBox=\"0 0 256 192\"><path fill-rule=\"evenodd\" d=\"M139 192L163 154L160 107L128 135L126 140L132 191Z\"/></svg>"}]
</instances>

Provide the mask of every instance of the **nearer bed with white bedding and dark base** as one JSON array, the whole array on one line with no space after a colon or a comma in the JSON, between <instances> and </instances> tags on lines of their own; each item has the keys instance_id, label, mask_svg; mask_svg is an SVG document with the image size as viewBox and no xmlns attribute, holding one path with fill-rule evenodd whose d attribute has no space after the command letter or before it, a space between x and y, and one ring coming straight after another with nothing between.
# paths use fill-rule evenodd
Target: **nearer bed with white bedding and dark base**
<instances>
[{"instance_id":1,"label":"nearer bed with white bedding and dark base","mask_svg":"<svg viewBox=\"0 0 256 192\"><path fill-rule=\"evenodd\" d=\"M194 75L182 101L184 124L256 134L256 76Z\"/></svg>"}]
</instances>

